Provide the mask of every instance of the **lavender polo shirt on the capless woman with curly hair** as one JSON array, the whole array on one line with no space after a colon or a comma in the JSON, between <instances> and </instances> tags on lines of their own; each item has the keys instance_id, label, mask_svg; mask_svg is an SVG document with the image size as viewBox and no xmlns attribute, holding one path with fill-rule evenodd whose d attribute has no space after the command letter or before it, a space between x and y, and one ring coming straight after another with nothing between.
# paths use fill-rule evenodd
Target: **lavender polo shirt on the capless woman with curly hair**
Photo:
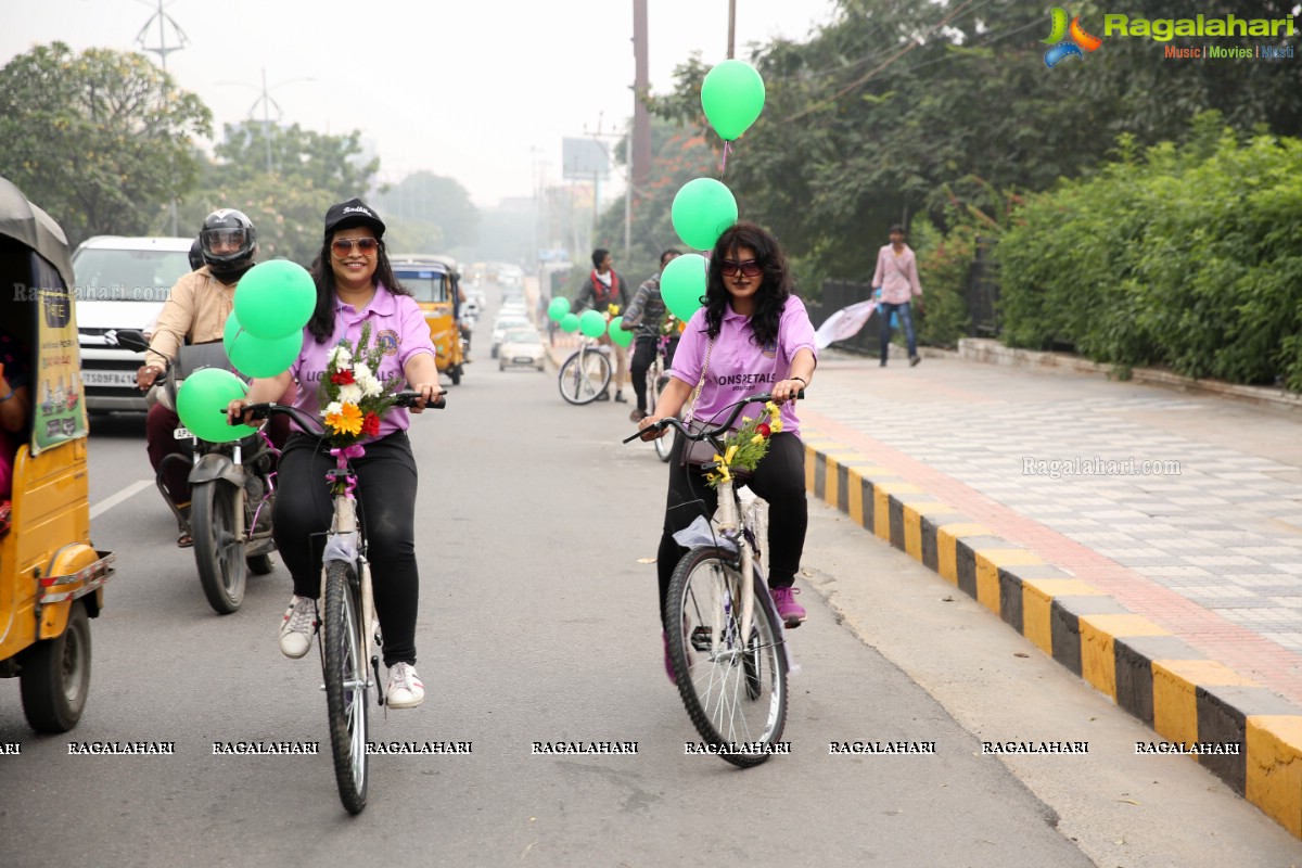
<instances>
[{"instance_id":1,"label":"lavender polo shirt on the capless woman with curly hair","mask_svg":"<svg viewBox=\"0 0 1302 868\"><path fill-rule=\"evenodd\" d=\"M708 346L706 308L702 307L691 315L682 331L671 371L693 390L700 381L700 366L706 360ZM715 349L710 353L706 381L700 387L693 419L708 422L716 415L723 415L728 406L746 396L772 390L779 380L785 380L790 375L792 359L803 347L809 347L815 358L818 357L818 350L814 347L814 324L810 323L805 303L794 295L786 299L786 307L783 308L777 341L766 346L755 344L750 331L750 318L734 314L729 306L719 327ZM783 431L798 436L801 422L796 418L793 406L790 402L783 405ZM759 415L763 413L763 405L751 405L743 413L747 416Z\"/></svg>"}]
</instances>

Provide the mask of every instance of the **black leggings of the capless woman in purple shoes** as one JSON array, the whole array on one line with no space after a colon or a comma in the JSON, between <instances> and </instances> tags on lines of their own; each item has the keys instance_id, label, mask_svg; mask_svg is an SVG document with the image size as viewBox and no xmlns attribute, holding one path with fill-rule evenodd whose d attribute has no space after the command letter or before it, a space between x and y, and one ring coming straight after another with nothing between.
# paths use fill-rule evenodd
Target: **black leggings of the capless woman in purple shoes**
<instances>
[{"instance_id":1,"label":"black leggings of the capless woman in purple shoes","mask_svg":"<svg viewBox=\"0 0 1302 868\"><path fill-rule=\"evenodd\" d=\"M656 552L661 621L673 569L687 553L687 549L673 540L673 535L691 524L698 515L711 517L719 508L719 492L710 488L704 476L695 471L689 478L689 471L681 466L678 455L684 442L678 437L673 454L669 455L669 498L664 511L664 535ZM809 527L805 444L799 437L786 432L773 435L768 454L759 462L755 476L746 485L768 501L768 587L789 588L801 569L805 531Z\"/></svg>"}]
</instances>

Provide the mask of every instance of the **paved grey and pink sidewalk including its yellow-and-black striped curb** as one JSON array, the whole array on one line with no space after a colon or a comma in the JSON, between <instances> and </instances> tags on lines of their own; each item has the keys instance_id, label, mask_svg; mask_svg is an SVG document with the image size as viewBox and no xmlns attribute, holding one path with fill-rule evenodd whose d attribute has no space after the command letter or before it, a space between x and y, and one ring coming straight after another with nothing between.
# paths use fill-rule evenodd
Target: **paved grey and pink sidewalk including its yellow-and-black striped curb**
<instances>
[{"instance_id":1,"label":"paved grey and pink sidewalk including its yellow-and-black striped curb","mask_svg":"<svg viewBox=\"0 0 1302 868\"><path fill-rule=\"evenodd\" d=\"M815 496L1302 835L1302 414L825 354L801 420Z\"/></svg>"}]
</instances>

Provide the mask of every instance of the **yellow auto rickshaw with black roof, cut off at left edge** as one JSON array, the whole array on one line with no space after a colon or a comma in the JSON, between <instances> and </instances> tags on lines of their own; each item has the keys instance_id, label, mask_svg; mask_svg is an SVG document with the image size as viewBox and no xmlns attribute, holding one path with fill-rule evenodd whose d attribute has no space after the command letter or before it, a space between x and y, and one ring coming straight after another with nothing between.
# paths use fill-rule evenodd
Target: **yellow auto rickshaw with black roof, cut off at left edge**
<instances>
[{"instance_id":1,"label":"yellow auto rickshaw with black roof, cut off at left edge","mask_svg":"<svg viewBox=\"0 0 1302 868\"><path fill-rule=\"evenodd\" d=\"M22 384L0 396L17 400L21 411L5 415L0 431L0 461L12 470L12 491L0 491L10 500L10 526L0 536L0 677L21 679L33 729L66 733L86 704L89 618L103 606L113 556L90 541L86 394L68 239L5 178L0 286L7 380Z\"/></svg>"}]
</instances>

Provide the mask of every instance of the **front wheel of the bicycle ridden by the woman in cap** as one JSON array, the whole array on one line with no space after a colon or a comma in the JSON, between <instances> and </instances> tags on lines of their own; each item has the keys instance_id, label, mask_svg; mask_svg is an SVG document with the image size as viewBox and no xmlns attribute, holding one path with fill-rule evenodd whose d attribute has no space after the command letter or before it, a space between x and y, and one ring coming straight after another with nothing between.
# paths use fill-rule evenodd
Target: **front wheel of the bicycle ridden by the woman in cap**
<instances>
[{"instance_id":1,"label":"front wheel of the bicycle ridden by the woman in cap","mask_svg":"<svg viewBox=\"0 0 1302 868\"><path fill-rule=\"evenodd\" d=\"M362 658L362 608L353 567L326 563L326 614L322 619L322 668L329 743L339 798L349 813L366 807L367 671Z\"/></svg>"}]
</instances>

